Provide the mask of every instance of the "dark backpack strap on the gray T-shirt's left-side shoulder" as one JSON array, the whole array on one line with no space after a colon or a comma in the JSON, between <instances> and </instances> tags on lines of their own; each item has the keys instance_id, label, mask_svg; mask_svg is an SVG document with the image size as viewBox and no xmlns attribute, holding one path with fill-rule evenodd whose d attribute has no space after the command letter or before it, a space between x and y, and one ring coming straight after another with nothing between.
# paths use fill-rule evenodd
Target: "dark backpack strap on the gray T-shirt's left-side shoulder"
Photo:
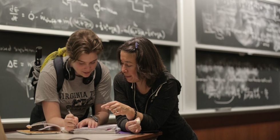
<instances>
[{"instance_id":1,"label":"dark backpack strap on the gray T-shirt's left-side shoulder","mask_svg":"<svg viewBox=\"0 0 280 140\"><path fill-rule=\"evenodd\" d=\"M55 67L56 78L57 78L57 92L59 92L64 82L63 57L61 56L55 57L55 59L53 59L53 65Z\"/></svg>"}]
</instances>

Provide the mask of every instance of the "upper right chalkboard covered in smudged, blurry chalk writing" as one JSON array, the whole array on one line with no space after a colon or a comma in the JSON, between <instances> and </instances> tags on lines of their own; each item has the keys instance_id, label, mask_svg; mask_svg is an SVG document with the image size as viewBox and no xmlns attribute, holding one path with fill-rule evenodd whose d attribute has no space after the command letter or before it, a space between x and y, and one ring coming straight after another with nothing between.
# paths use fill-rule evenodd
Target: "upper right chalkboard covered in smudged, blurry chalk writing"
<instances>
[{"instance_id":1,"label":"upper right chalkboard covered in smudged, blurry chalk writing","mask_svg":"<svg viewBox=\"0 0 280 140\"><path fill-rule=\"evenodd\" d=\"M197 43L280 51L280 5L260 0L196 0Z\"/></svg>"}]
</instances>

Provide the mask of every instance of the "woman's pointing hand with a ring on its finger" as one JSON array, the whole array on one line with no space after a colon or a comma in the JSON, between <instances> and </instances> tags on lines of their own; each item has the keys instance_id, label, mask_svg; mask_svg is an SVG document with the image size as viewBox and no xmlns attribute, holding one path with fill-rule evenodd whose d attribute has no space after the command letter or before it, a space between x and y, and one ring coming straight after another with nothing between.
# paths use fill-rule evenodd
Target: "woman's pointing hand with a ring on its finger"
<instances>
[{"instance_id":1,"label":"woman's pointing hand with a ring on its finger","mask_svg":"<svg viewBox=\"0 0 280 140\"><path fill-rule=\"evenodd\" d=\"M114 115L130 115L131 107L118 101L111 101L101 106L101 108L109 109ZM133 110L133 109L132 109ZM134 116L134 114L132 114Z\"/></svg>"}]
</instances>

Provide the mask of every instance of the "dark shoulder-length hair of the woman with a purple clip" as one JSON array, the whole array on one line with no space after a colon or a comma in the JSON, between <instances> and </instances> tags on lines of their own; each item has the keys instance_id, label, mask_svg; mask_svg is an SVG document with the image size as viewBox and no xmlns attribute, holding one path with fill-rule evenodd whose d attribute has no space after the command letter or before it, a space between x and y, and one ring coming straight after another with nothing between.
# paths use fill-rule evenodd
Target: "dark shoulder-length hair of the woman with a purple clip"
<instances>
[{"instance_id":1,"label":"dark shoulder-length hair of the woman with a purple clip","mask_svg":"<svg viewBox=\"0 0 280 140\"><path fill-rule=\"evenodd\" d=\"M135 47L137 43L137 48ZM146 84L151 87L155 80L160 77L165 65L155 45L144 37L133 37L126 41L117 50L117 60L121 65L121 51L136 53L136 71L139 79L146 79Z\"/></svg>"}]
</instances>

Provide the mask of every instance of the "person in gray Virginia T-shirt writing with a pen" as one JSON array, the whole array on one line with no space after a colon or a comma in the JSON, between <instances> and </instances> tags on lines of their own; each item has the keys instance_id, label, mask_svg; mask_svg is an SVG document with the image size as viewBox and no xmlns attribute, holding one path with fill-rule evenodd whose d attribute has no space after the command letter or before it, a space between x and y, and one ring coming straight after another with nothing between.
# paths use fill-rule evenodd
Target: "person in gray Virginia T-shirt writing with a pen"
<instances>
[{"instance_id":1,"label":"person in gray Virginia T-shirt writing with a pen","mask_svg":"<svg viewBox=\"0 0 280 140\"><path fill-rule=\"evenodd\" d=\"M63 53L60 50L58 53ZM93 82L98 54L102 51L102 42L93 31L75 31L66 44L67 56L63 57L65 80L59 92L53 60L46 63L40 72L35 103L42 105L47 123L65 127L67 131L107 123L109 111L101 109L101 105L111 101L111 76L101 62L101 80L96 87ZM91 106L95 114L88 117Z\"/></svg>"}]
</instances>

